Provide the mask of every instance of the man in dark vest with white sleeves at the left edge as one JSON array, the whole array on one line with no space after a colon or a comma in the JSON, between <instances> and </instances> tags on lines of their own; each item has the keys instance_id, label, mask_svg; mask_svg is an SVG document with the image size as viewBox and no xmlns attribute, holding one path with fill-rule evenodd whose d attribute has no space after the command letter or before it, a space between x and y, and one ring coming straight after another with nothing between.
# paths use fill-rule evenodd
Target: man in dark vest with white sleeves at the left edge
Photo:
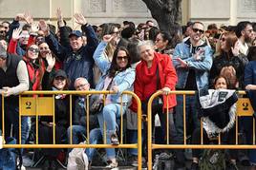
<instances>
[{"instance_id":1,"label":"man in dark vest with white sleeves at the left edge","mask_svg":"<svg viewBox=\"0 0 256 170\"><path fill-rule=\"evenodd\" d=\"M7 53L7 48L0 45L0 88L5 96L5 134L10 136L11 124L13 136L18 140L19 101L18 94L29 89L29 74L21 56ZM2 104L2 103L1 103ZM2 105L1 105L2 107ZM2 124L2 116L0 117ZM2 125L0 126L2 128ZM27 117L22 119L21 141L27 139Z\"/></svg>"}]
</instances>

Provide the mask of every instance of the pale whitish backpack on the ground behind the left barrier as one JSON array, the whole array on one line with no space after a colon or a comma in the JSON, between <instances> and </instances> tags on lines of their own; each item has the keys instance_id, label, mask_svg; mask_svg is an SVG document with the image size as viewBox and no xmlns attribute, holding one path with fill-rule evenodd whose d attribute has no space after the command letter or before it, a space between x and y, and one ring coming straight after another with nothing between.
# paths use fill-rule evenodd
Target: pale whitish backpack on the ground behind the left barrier
<instances>
[{"instance_id":1,"label":"pale whitish backpack on the ground behind the left barrier","mask_svg":"<svg viewBox=\"0 0 256 170\"><path fill-rule=\"evenodd\" d=\"M85 148L74 148L69 153L67 170L88 170L88 157Z\"/></svg>"}]
</instances>

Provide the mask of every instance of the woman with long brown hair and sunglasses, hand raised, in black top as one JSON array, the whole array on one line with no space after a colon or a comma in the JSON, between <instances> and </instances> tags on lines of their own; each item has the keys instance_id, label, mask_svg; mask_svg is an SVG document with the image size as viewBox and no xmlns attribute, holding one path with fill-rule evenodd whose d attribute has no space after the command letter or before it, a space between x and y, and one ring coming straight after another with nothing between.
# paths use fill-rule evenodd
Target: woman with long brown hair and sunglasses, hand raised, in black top
<instances>
[{"instance_id":1,"label":"woman with long brown hair and sunglasses, hand raised, in black top","mask_svg":"<svg viewBox=\"0 0 256 170\"><path fill-rule=\"evenodd\" d=\"M210 85L220 74L230 81L230 88L242 88L245 65L248 60L239 52L240 44L234 32L224 32L216 46L215 58L210 70Z\"/></svg>"}]
</instances>

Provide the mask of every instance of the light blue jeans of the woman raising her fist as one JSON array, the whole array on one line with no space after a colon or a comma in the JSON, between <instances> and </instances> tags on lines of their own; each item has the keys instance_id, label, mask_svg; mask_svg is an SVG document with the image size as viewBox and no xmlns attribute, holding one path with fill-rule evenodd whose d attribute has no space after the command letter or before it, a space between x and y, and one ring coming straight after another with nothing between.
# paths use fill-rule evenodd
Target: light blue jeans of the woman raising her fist
<instances>
[{"instance_id":1,"label":"light blue jeans of the woman raising her fist","mask_svg":"<svg viewBox=\"0 0 256 170\"><path fill-rule=\"evenodd\" d=\"M126 106L122 106L122 114L126 111ZM106 123L106 139L107 144L110 144L110 138L111 135L115 134L118 128L117 119L120 118L120 110L121 105L120 104L107 104L103 107L103 110L97 114L97 120L99 123L99 127L101 130L102 137L103 135L103 129L104 129L104 122ZM114 148L107 148L106 149L107 158L112 160L116 158L116 152Z\"/></svg>"}]
</instances>

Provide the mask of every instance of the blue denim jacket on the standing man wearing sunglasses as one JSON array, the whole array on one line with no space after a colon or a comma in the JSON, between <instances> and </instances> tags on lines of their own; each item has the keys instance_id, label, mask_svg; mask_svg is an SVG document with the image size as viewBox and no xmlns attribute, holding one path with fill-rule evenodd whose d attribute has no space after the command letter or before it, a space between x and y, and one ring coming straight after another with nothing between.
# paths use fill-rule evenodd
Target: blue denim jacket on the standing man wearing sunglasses
<instances>
[{"instance_id":1,"label":"blue denim jacket on the standing man wearing sunglasses","mask_svg":"<svg viewBox=\"0 0 256 170\"><path fill-rule=\"evenodd\" d=\"M177 75L179 77L177 88L184 88L187 81L189 69L194 69L196 74L196 83L198 89L208 87L209 71L212 66L212 50L211 47L203 44L199 47L194 47L195 51L201 50L202 53L196 59L194 57L195 52L192 52L192 45L190 39L178 44L174 49L173 64L176 68ZM181 58L187 63L188 69L179 67L180 63L176 60Z\"/></svg>"}]
</instances>

